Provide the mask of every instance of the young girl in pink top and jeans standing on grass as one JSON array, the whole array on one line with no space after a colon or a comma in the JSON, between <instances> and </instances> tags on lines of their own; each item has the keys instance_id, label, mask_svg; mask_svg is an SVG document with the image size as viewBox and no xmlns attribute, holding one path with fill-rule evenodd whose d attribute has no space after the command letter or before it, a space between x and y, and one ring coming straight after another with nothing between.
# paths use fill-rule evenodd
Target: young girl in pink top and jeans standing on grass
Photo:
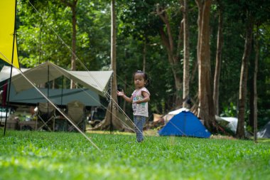
<instances>
[{"instance_id":1,"label":"young girl in pink top and jeans standing on grass","mask_svg":"<svg viewBox=\"0 0 270 180\"><path fill-rule=\"evenodd\" d=\"M143 127L146 117L148 117L148 101L150 100L150 92L145 88L148 85L146 73L141 70L134 73L134 85L136 90L131 97L127 97L124 91L117 91L117 95L123 97L127 102L132 102L136 139L137 142L142 142L144 140Z\"/></svg>"}]
</instances>

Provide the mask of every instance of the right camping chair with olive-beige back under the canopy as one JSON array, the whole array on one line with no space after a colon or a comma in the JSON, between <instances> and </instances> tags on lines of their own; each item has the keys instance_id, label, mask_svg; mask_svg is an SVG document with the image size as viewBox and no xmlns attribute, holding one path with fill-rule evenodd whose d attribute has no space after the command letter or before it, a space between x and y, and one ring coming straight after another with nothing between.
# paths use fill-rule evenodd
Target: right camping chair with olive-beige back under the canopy
<instances>
[{"instance_id":1,"label":"right camping chair with olive-beige back under the canopy","mask_svg":"<svg viewBox=\"0 0 270 180\"><path fill-rule=\"evenodd\" d=\"M80 101L72 101L67 105L67 114L70 120L77 125L82 131L86 129L86 112L85 105ZM75 127L69 123L68 131L73 131Z\"/></svg>"}]
</instances>

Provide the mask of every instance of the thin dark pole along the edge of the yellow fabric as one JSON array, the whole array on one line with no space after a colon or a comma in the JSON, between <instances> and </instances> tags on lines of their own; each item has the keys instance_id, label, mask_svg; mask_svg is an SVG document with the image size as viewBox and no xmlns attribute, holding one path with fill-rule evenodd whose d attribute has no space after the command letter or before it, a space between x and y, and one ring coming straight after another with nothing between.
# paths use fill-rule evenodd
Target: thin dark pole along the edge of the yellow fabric
<instances>
[{"instance_id":1,"label":"thin dark pole along the edge of the yellow fabric","mask_svg":"<svg viewBox=\"0 0 270 180\"><path fill-rule=\"evenodd\" d=\"M9 76L9 90L8 90L8 96L6 97L6 120L5 120L5 127L4 127L4 135L6 135L6 121L8 117L8 111L9 111L9 94L11 91L11 77L12 77L12 68L13 68L13 58L14 58L14 46L15 46L15 37L16 37L16 9L17 9L17 1L15 1L15 19L14 19L14 31L13 31L13 45L12 45L12 58L11 58L11 73Z\"/></svg>"}]
</instances>

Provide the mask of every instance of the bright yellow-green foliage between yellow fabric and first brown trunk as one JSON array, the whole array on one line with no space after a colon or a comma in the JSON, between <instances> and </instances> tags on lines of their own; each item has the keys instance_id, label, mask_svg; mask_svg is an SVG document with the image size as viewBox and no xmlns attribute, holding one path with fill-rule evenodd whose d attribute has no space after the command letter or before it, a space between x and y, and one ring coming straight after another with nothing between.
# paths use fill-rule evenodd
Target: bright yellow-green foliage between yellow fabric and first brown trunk
<instances>
[{"instance_id":1,"label":"bright yellow-green foliage between yellow fabric and first brown trunk","mask_svg":"<svg viewBox=\"0 0 270 180\"><path fill-rule=\"evenodd\" d=\"M35 5L41 7L39 3ZM28 2L18 1L18 55L20 63L26 67L47 60L58 65L70 61L68 48L63 46L63 41L70 41L71 38L71 23L68 18L62 18L67 16L68 11L53 1L43 5L50 9L37 9L38 13ZM61 35L63 41L60 41L58 35Z\"/></svg>"}]
</instances>

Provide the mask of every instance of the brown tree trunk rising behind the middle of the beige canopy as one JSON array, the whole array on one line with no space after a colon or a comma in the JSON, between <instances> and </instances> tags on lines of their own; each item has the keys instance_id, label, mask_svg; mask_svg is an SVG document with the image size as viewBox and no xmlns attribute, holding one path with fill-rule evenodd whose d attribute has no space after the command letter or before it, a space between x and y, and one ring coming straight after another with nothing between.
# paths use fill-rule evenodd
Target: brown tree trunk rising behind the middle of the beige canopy
<instances>
[{"instance_id":1,"label":"brown tree trunk rising behind the middle of the beige canopy","mask_svg":"<svg viewBox=\"0 0 270 180\"><path fill-rule=\"evenodd\" d=\"M69 6L72 11L72 55L71 55L71 68L70 70L76 70L76 25L77 25L77 18L76 18L76 6L78 0L61 0L63 4ZM74 88L75 84L72 82L70 83L70 88Z\"/></svg>"}]
</instances>

